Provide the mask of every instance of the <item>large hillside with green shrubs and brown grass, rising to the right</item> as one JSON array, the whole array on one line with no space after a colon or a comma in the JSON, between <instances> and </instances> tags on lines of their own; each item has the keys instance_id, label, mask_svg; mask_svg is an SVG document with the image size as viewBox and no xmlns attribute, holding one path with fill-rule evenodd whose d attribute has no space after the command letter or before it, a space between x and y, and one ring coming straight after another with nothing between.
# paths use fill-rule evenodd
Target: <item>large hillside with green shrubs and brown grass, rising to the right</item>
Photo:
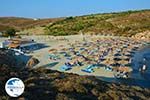
<instances>
[{"instance_id":1,"label":"large hillside with green shrubs and brown grass, rising to the right","mask_svg":"<svg viewBox=\"0 0 150 100\"><path fill-rule=\"evenodd\" d=\"M68 17L45 28L50 35L103 34L132 36L150 31L150 10Z\"/></svg>"}]
</instances>

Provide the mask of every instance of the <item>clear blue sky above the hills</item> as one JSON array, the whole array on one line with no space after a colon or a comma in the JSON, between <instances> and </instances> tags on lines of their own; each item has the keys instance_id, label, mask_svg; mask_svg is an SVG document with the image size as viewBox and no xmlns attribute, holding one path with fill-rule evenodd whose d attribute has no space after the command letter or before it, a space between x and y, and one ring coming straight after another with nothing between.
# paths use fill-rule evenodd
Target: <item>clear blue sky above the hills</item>
<instances>
[{"instance_id":1,"label":"clear blue sky above the hills","mask_svg":"<svg viewBox=\"0 0 150 100\"><path fill-rule=\"evenodd\" d=\"M150 0L0 0L0 17L56 18L150 9Z\"/></svg>"}]
</instances>

